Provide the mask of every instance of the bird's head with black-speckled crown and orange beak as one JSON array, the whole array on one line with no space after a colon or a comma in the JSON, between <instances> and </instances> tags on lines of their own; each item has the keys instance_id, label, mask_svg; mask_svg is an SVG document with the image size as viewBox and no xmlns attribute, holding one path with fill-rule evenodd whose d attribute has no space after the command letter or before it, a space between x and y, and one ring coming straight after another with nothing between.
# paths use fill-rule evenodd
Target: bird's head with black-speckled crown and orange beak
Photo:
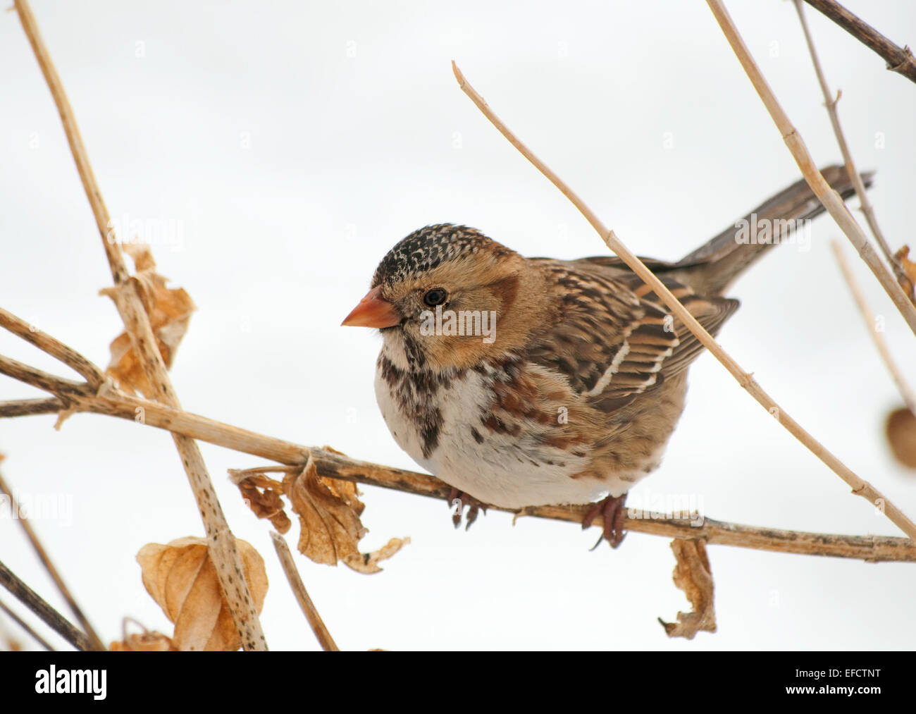
<instances>
[{"instance_id":1,"label":"bird's head with black-speckled crown and orange beak","mask_svg":"<svg viewBox=\"0 0 916 714\"><path fill-rule=\"evenodd\" d=\"M464 225L428 225L388 251L344 319L409 342L431 368L465 368L524 344L540 302L525 258Z\"/></svg>"}]
</instances>

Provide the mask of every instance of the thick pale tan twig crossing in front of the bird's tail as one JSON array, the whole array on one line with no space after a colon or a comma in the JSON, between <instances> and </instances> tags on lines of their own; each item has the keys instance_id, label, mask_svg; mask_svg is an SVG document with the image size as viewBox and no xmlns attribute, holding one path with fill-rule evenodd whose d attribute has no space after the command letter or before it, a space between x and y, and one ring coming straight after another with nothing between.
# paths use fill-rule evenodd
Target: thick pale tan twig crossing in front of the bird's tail
<instances>
[{"instance_id":1,"label":"thick pale tan twig crossing in front of the bird's tail","mask_svg":"<svg viewBox=\"0 0 916 714\"><path fill-rule=\"evenodd\" d=\"M706 4L713 11L716 22L718 22L719 27L722 27L725 38L735 51L736 57L741 62L741 66L744 67L748 79L754 85L754 89L757 90L763 104L767 107L773 122L779 127L780 135L791 151L799 169L802 170L802 176L804 176L805 181L808 181L808 185L811 186L814 195L823 203L824 208L834 217L834 221L840 226L853 246L856 247L859 256L874 273L878 282L881 283L881 287L888 293L900 314L903 315L903 319L910 325L913 335L916 335L916 305L910 301L900 284L897 280L894 280L884 263L878 258L878 253L871 247L862 228L859 227L856 219L849 213L842 199L830 187L830 184L824 181L821 172L817 170L817 166L808 152L808 148L805 147L802 137L792 126L789 116L783 111L773 91L769 88L767 80L764 79L763 74L760 72L757 63L751 57L744 40L732 22L732 18L728 15L728 11L725 10L725 5L722 4L721 0L706 0Z\"/></svg>"}]
</instances>

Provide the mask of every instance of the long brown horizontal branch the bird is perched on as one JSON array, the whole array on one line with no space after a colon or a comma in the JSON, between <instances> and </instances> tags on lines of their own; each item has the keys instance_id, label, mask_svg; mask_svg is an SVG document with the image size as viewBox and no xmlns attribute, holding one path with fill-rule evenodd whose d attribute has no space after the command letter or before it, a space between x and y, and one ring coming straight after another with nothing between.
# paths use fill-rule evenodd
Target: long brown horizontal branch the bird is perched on
<instances>
[{"instance_id":1,"label":"long brown horizontal branch the bird is perched on","mask_svg":"<svg viewBox=\"0 0 916 714\"><path fill-rule=\"evenodd\" d=\"M0 372L3 372L3 359L0 357ZM67 408L72 412L104 414L135 423L144 423L172 433L184 434L192 439L294 467L304 466L311 453L319 475L326 478L340 478L438 500L447 501L451 494L452 489L448 484L427 474L358 461L327 447L303 446L272 436L256 434L256 432L217 422L198 414L172 409L157 401L124 394L111 385L103 385L96 392L88 384L84 385L82 390L73 390L71 382L66 380L62 382L60 397L67 401ZM26 401L31 402L30 408L16 412L16 414L39 413L38 402L43 410L40 413L54 413L63 406L63 401L57 399ZM0 414L2 413L3 409L0 409ZM506 511L516 515L577 524L582 522L586 509L586 506L538 506L522 511L512 511L493 507L494 511ZM703 538L711 544L733 545L776 553L824 555L867 562L916 563L916 545L906 538L783 531L714 521L709 518L698 519L695 516L677 518L655 512L630 511L628 515L630 516L626 521L628 531L650 533L665 538ZM702 525L696 525L700 520L702 520ZM596 519L594 527L600 527L601 524L600 519Z\"/></svg>"}]
</instances>

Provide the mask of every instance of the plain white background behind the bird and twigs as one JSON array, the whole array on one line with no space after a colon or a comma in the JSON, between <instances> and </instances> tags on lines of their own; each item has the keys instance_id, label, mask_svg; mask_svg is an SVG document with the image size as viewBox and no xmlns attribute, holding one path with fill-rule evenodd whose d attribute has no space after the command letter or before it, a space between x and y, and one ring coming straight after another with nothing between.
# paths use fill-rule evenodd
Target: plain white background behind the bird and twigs
<instances>
[{"instance_id":1,"label":"plain white background behind the bird and twigs","mask_svg":"<svg viewBox=\"0 0 916 714\"><path fill-rule=\"evenodd\" d=\"M845 5L900 45L916 41L916 5ZM814 158L838 161L792 4L728 6ZM399 238L454 222L527 255L605 250L459 91L450 60L642 255L679 258L800 176L699 0L562 10L35 0L34 9L112 216L176 226L172 242L153 249L160 272L199 307L172 369L184 407L369 461L414 468L376 409L378 336L338 325ZM854 156L878 170L871 196L881 225L895 247L912 241L916 86L823 16L807 15L828 80L843 90ZM15 13L0 15L0 86L0 304L104 366L121 331L97 294L111 276ZM828 247L836 236L821 218L810 251L781 247L752 269L733 291L743 306L720 341L913 516L916 480L883 439L900 399L839 277ZM855 269L916 383L913 336L857 258ZM0 353L66 373L9 335L0 335ZM0 379L0 399L30 396L38 392ZM53 423L0 422L5 478L22 500L69 504L66 517L35 525L106 641L119 637L125 616L171 632L135 562L143 544L202 534L169 434L92 415L60 432ZM267 522L245 510L225 477L262 462L202 451L234 532L267 561L267 643L315 649ZM710 546L719 632L669 641L656 618L671 621L688 606L671 583L664 539L631 533L616 552L590 553L596 531L535 519L513 527L496 512L456 532L442 502L364 490L364 548L392 536L412 544L371 577L299 558L344 649L912 647L916 566ZM669 494L692 496L725 521L900 535L711 357L692 368L662 467L633 495ZM290 541L296 533L294 525ZM8 515L0 559L65 611Z\"/></svg>"}]
</instances>

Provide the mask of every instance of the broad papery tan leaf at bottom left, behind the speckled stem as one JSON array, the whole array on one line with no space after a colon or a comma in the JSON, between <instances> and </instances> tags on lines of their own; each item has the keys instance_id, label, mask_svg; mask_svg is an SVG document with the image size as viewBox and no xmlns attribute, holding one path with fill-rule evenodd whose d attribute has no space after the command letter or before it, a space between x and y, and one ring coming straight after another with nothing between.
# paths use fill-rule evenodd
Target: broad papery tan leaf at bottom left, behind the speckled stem
<instances>
[{"instance_id":1,"label":"broad papery tan leaf at bottom left, behind the speckled stem","mask_svg":"<svg viewBox=\"0 0 916 714\"><path fill-rule=\"evenodd\" d=\"M245 582L260 612L267 594L264 559L245 541L236 539L235 544ZM144 545L136 561L147 592L175 623L172 641L179 650L234 651L242 646L203 538Z\"/></svg>"}]
</instances>

